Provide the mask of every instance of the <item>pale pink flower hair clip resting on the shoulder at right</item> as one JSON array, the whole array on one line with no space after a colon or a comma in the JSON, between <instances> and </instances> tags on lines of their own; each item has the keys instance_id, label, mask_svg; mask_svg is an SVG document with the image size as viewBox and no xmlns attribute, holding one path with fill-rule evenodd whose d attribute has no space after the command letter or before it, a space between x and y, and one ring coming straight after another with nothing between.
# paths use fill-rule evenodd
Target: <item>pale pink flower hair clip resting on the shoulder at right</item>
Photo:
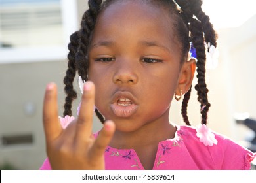
<instances>
[{"instance_id":1,"label":"pale pink flower hair clip resting on the shoulder at right","mask_svg":"<svg viewBox=\"0 0 256 183\"><path fill-rule=\"evenodd\" d=\"M199 138L199 141L202 142L205 146L217 145L217 140L215 135L205 124L200 124L196 127L196 136Z\"/></svg>"}]
</instances>

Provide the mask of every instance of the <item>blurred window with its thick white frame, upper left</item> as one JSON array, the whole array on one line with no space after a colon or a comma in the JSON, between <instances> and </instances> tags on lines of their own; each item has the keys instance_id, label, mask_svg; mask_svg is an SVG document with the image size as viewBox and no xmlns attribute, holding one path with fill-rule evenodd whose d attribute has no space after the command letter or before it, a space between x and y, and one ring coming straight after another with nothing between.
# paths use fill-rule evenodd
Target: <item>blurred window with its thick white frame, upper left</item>
<instances>
[{"instance_id":1,"label":"blurred window with its thick white frame, upper left","mask_svg":"<svg viewBox=\"0 0 256 183\"><path fill-rule=\"evenodd\" d=\"M74 0L0 0L0 63L66 58Z\"/></svg>"}]
</instances>

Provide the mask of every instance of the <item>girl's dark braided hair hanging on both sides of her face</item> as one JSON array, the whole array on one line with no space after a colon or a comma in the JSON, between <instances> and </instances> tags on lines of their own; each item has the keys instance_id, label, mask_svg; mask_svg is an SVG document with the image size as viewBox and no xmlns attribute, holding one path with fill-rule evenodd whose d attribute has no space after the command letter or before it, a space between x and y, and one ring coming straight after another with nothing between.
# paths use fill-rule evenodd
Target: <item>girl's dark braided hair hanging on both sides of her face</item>
<instances>
[{"instance_id":1,"label":"girl's dark braided hair hanging on both sides of her face","mask_svg":"<svg viewBox=\"0 0 256 183\"><path fill-rule=\"evenodd\" d=\"M70 44L68 44L68 69L64 77L64 91L66 99L64 104L64 116L72 116L72 101L77 98L74 90L73 82L76 72L85 81L88 80L88 47L93 35L93 29L98 14L107 8L111 3L121 0L89 0L89 9L83 14L81 27L78 31L70 36ZM209 21L209 16L202 11L202 0L144 0L146 3L153 3L170 12L175 26L175 36L181 42L181 62L188 57L190 42L196 49L196 71L198 83L195 89L198 94L198 101L201 105L202 124L207 124L207 112L211 106L207 99L207 85L205 83L205 43L217 46L217 34L213 29L213 25ZM187 115L188 101L190 99L192 87L184 95L182 101L181 114L186 125L190 125ZM96 116L100 122L104 123L105 119L100 112L95 109Z\"/></svg>"}]
</instances>

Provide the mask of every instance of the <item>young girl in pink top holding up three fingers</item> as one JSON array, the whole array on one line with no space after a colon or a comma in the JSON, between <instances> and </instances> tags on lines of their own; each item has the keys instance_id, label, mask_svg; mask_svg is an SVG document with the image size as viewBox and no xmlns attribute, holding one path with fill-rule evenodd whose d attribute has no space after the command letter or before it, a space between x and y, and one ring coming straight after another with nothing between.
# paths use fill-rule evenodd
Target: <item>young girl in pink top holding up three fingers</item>
<instances>
[{"instance_id":1,"label":"young girl in pink top holding up three fingers","mask_svg":"<svg viewBox=\"0 0 256 183\"><path fill-rule=\"evenodd\" d=\"M206 52L214 50L217 35L201 5L200 0L89 0L81 29L68 45L61 123L56 85L48 84L45 92L49 159L41 169L250 169L255 153L206 125L205 45ZM202 122L191 127L186 108L195 70ZM80 83L87 82L74 120L76 71ZM186 126L169 122L173 96L179 101L182 95ZM92 135L94 110L104 126Z\"/></svg>"}]
</instances>

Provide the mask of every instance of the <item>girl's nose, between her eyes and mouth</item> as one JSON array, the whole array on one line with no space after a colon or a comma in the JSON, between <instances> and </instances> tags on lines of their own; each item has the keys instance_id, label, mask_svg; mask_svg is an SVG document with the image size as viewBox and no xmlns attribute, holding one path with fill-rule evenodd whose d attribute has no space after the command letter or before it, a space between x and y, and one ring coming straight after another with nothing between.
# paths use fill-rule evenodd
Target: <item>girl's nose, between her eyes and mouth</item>
<instances>
[{"instance_id":1,"label":"girl's nose, between her eyes and mouth","mask_svg":"<svg viewBox=\"0 0 256 183\"><path fill-rule=\"evenodd\" d=\"M137 84L138 75L136 65L131 60L116 60L116 68L113 76L115 84Z\"/></svg>"}]
</instances>

